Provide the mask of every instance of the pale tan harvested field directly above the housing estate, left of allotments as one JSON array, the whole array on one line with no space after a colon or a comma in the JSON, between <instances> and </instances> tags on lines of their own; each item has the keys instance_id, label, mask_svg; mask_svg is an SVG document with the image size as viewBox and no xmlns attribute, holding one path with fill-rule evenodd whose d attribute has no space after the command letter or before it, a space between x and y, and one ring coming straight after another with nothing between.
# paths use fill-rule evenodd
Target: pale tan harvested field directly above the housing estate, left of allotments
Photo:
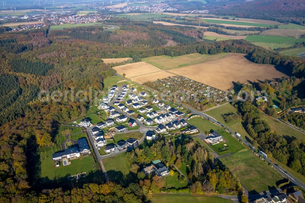
<instances>
[{"instance_id":1,"label":"pale tan harvested field directly above the housing estate, left of allotments","mask_svg":"<svg viewBox=\"0 0 305 203\"><path fill-rule=\"evenodd\" d=\"M128 79L143 84L147 81L155 81L158 79L174 76L173 73L168 73L164 70L160 70L156 66L150 65L145 62L130 63L122 66L113 67L118 74L126 74Z\"/></svg>"}]
</instances>

